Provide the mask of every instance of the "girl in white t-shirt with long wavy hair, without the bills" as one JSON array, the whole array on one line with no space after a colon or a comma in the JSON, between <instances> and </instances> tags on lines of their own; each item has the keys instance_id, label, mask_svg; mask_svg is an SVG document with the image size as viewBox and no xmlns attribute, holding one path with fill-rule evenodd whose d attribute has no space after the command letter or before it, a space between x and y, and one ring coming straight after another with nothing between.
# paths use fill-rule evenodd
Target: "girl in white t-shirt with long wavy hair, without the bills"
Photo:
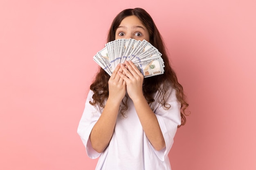
<instances>
[{"instance_id":1,"label":"girl in white t-shirt with long wavy hair, without the bills","mask_svg":"<svg viewBox=\"0 0 256 170\"><path fill-rule=\"evenodd\" d=\"M168 61L162 37L141 8L121 11L108 42L146 40L162 53L164 74L144 78L126 61L109 76L100 68L85 103L78 133L96 170L171 170L168 153L188 107L182 85Z\"/></svg>"}]
</instances>

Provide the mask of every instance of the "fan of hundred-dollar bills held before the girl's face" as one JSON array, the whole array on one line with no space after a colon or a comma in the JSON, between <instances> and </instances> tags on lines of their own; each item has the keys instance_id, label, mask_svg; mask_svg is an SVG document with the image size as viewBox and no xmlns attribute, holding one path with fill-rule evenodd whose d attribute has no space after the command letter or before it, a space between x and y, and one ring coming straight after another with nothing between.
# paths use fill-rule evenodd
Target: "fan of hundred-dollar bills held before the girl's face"
<instances>
[{"instance_id":1,"label":"fan of hundred-dollar bills held before the girl's face","mask_svg":"<svg viewBox=\"0 0 256 170\"><path fill-rule=\"evenodd\" d=\"M148 41L117 39L105 44L105 48L93 57L110 76L118 63L131 60L144 77L164 73L162 54Z\"/></svg>"}]
</instances>

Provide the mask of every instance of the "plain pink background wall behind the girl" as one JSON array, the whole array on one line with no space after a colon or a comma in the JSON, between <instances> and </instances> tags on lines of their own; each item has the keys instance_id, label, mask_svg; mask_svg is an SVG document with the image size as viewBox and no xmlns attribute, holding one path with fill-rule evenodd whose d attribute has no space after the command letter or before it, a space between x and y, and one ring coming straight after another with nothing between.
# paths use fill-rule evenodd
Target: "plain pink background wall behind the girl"
<instances>
[{"instance_id":1,"label":"plain pink background wall behind the girl","mask_svg":"<svg viewBox=\"0 0 256 170\"><path fill-rule=\"evenodd\" d=\"M142 7L191 116L173 170L256 169L254 0L1 0L0 169L93 170L76 129L113 18Z\"/></svg>"}]
</instances>

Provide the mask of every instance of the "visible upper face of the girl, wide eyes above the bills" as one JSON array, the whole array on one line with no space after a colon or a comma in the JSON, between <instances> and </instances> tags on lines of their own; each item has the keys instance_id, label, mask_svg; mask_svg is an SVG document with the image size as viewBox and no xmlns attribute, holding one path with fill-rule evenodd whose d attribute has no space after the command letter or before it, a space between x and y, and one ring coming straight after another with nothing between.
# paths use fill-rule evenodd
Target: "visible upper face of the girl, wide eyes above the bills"
<instances>
[{"instance_id":1,"label":"visible upper face of the girl, wide eyes above the bills","mask_svg":"<svg viewBox=\"0 0 256 170\"><path fill-rule=\"evenodd\" d=\"M115 39L136 39L149 42L148 29L142 24L138 17L131 15L125 17L115 33Z\"/></svg>"}]
</instances>

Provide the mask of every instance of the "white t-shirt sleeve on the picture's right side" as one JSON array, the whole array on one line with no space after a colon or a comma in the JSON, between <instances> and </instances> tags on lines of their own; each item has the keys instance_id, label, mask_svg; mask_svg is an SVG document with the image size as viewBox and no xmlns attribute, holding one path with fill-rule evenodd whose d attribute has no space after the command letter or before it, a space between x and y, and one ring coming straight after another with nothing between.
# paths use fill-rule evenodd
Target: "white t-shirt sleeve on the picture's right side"
<instances>
[{"instance_id":1,"label":"white t-shirt sleeve on the picture's right side","mask_svg":"<svg viewBox=\"0 0 256 170\"><path fill-rule=\"evenodd\" d=\"M166 147L159 151L153 148L155 154L161 161L164 161L164 159L168 156L168 153L173 145L173 138L177 131L177 126L181 124L181 105L176 98L175 89L170 89L167 94L168 98L166 103L168 103L171 107L166 109L159 104L154 111L166 144Z\"/></svg>"}]
</instances>

